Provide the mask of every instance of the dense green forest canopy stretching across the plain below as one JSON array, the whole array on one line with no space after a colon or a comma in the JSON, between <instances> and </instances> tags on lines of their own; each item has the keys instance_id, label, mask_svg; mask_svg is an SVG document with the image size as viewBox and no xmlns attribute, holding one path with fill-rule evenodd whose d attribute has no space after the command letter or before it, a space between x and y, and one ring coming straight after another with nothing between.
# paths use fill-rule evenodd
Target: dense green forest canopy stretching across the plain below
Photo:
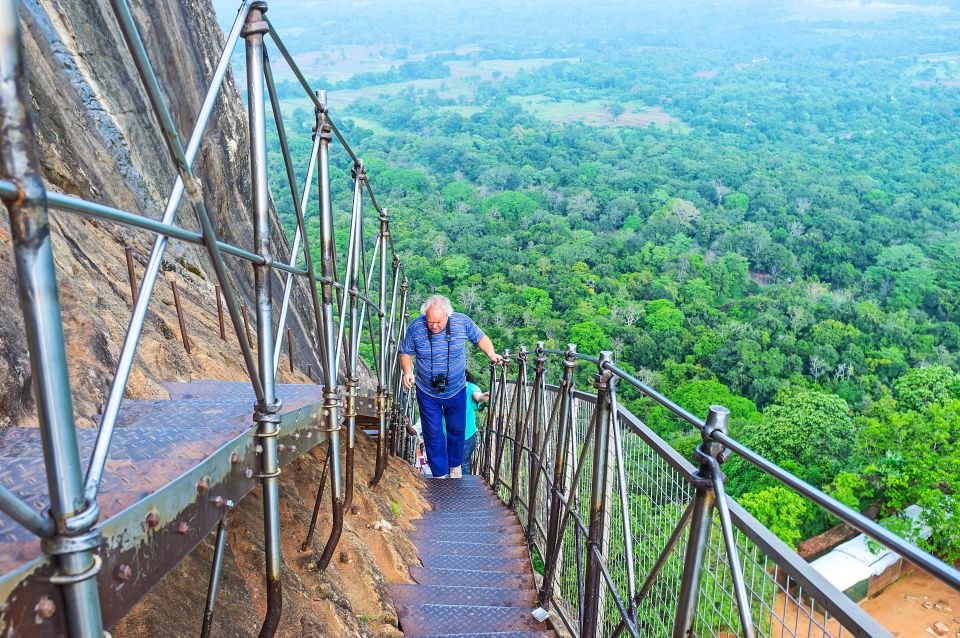
<instances>
[{"instance_id":1,"label":"dense green forest canopy stretching across the plain below","mask_svg":"<svg viewBox=\"0 0 960 638\"><path fill-rule=\"evenodd\" d=\"M335 115L390 210L414 303L448 294L499 348L611 349L697 414L727 406L734 436L849 505L887 517L920 504L929 548L960 558L960 54L929 57L954 50L956 12L841 21L730 3L680 29L638 5L643 20L601 37L615 4L564 38L552 22L511 37L510 20L494 38L481 9L415 35L353 14L363 28L334 36L440 56L391 61L390 81L443 76L463 56L441 54L465 42L473 60L576 60L477 78L466 97L414 78ZM605 104L611 119L554 122L551 101ZM683 128L631 125L637 105ZM306 157L312 113L287 124ZM270 159L289 226L275 142ZM334 159L347 211L350 167ZM689 457L695 432L624 398ZM789 543L835 522L743 463L727 470Z\"/></svg>"}]
</instances>

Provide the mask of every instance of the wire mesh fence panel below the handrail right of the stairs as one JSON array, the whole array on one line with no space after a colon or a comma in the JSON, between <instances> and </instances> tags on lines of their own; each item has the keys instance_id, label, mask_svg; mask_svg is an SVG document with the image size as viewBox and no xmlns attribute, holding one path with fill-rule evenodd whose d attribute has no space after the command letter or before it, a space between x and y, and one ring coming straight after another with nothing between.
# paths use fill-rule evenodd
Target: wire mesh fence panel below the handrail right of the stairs
<instances>
[{"instance_id":1,"label":"wire mesh fence panel below the handrail right of the stairs","mask_svg":"<svg viewBox=\"0 0 960 638\"><path fill-rule=\"evenodd\" d=\"M702 520L708 532L693 549L688 547L694 503L703 493L696 486L703 490L708 485L705 491L713 494L697 468L610 395L601 394L605 407L601 411L597 395L569 391L564 419L560 409L564 386L541 385L539 396L536 386L536 382L528 382L520 397L523 400L518 401L516 382L506 383L506 403L492 420L492 435L497 439L493 448L500 449L495 480L505 502L511 492L515 494L514 509L532 548L546 563L543 573L549 582L542 583L542 591L548 598L541 603L551 607L555 625L564 626L574 636L586 635L584 628L589 633L593 627L584 615L595 609L596 633L590 635L673 636L683 613L680 599L685 570L690 569L688 554L693 552L702 555L703 567L695 586L690 635L889 635L725 496L727 513L723 516L727 516L742 576L731 569L719 508L706 510L708 518ZM607 420L611 411L616 418ZM526 426L518 427L518 416ZM599 421L610 427L601 428ZM533 445L534 425L543 437L539 446ZM513 440L518 434L519 441ZM597 457L597 437L600 441L609 438L609 445L600 448L606 450L603 458ZM561 446L563 472L557 481ZM515 463L519 466L514 474ZM601 463L606 472L595 473L595 466ZM528 517L531 472L541 478L532 501L534 515ZM593 489L596 481L602 485L599 502ZM566 510L569 515L564 516ZM601 523L599 536L591 526L592 517ZM562 528L555 530L551 555L553 524ZM589 590L590 569L603 572L599 592ZM742 612L749 619L746 629L741 626L738 587L746 592ZM592 604L591 596L597 597Z\"/></svg>"}]
</instances>

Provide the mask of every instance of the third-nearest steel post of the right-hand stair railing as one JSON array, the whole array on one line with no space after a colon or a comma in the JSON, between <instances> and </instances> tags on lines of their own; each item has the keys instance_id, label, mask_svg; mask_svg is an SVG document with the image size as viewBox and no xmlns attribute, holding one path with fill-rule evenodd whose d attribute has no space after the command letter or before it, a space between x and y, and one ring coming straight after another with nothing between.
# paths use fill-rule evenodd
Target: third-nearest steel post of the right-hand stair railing
<instances>
[{"instance_id":1,"label":"third-nearest steel post of the right-hand stair railing","mask_svg":"<svg viewBox=\"0 0 960 638\"><path fill-rule=\"evenodd\" d=\"M553 488L550 490L550 506L547 511L547 556L543 566L543 582L540 587L540 606L546 607L553 597L554 578L560 560L560 545L563 543L563 530L560 529L562 496L566 485L567 448L570 444L571 408L573 403L573 372L577 367L577 346L567 344L563 357L563 379L560 381L560 412L557 416L557 445L553 458Z\"/></svg>"}]
</instances>

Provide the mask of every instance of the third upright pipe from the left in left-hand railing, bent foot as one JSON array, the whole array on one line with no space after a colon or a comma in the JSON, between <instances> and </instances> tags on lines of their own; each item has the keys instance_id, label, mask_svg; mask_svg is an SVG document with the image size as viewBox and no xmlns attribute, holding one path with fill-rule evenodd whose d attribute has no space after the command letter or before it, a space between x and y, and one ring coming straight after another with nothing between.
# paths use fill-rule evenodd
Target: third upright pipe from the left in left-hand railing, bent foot
<instances>
[{"instance_id":1,"label":"third upright pipe from the left in left-hand railing, bent foot","mask_svg":"<svg viewBox=\"0 0 960 638\"><path fill-rule=\"evenodd\" d=\"M336 346L333 343L336 325L333 321L333 258L336 249L333 235L333 203L330 194L330 125L327 122L326 91L317 92L322 105L317 111L317 134L320 135L320 268L326 279L321 290L321 348L323 364L323 422L329 435L330 450L330 497L333 508L333 525L323 548L317 570L323 571L330 564L333 552L343 532L343 486L340 476L340 391L337 385Z\"/></svg>"}]
</instances>

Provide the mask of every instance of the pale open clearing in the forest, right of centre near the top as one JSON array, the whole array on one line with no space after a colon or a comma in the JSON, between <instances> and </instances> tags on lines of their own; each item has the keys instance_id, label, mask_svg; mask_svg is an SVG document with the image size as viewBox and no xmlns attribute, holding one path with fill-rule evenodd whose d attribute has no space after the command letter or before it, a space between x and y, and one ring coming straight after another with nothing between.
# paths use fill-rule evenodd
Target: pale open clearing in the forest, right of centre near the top
<instances>
[{"instance_id":1,"label":"pale open clearing in the forest, right of centre near the top","mask_svg":"<svg viewBox=\"0 0 960 638\"><path fill-rule=\"evenodd\" d=\"M544 95L524 95L509 98L537 117L552 122L582 122L588 126L658 126L688 132L690 128L657 106L644 106L638 102L624 102L625 111L616 120L607 110L604 100L557 100Z\"/></svg>"}]
</instances>

